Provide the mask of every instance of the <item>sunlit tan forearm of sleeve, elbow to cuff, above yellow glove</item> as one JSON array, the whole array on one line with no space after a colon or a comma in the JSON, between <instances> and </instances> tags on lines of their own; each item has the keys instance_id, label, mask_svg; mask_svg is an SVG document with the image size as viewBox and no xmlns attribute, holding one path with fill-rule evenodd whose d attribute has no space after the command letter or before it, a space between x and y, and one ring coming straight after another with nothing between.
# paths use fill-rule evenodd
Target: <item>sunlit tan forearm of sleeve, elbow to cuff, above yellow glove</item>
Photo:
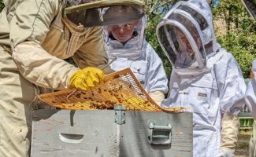
<instances>
[{"instance_id":1,"label":"sunlit tan forearm of sleeve, elbow to cuff, above yellow glove","mask_svg":"<svg viewBox=\"0 0 256 157\"><path fill-rule=\"evenodd\" d=\"M36 42L22 42L13 50L20 74L35 85L67 89L71 75L78 70L72 64L51 56Z\"/></svg>"}]
</instances>

